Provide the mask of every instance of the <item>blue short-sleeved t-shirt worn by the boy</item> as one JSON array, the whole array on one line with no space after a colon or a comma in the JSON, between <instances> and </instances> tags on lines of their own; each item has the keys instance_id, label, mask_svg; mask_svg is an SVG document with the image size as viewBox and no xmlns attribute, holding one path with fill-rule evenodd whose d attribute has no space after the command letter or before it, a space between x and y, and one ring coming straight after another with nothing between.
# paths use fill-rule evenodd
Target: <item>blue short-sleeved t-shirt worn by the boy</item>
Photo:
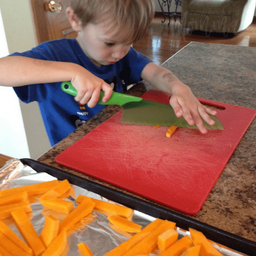
<instances>
[{"instance_id":1,"label":"blue short-sleeved t-shirt worn by the boy","mask_svg":"<svg viewBox=\"0 0 256 256\"><path fill-rule=\"evenodd\" d=\"M141 72L150 62L147 57L130 48L122 60L115 64L97 67L83 53L76 39L47 41L30 51L11 55L79 64L108 84L114 85L116 92L126 91L128 85L141 81ZM73 96L61 90L61 82L26 85L13 89L21 101L38 102L52 146L106 107L105 105L96 105L94 108L81 106Z\"/></svg>"}]
</instances>

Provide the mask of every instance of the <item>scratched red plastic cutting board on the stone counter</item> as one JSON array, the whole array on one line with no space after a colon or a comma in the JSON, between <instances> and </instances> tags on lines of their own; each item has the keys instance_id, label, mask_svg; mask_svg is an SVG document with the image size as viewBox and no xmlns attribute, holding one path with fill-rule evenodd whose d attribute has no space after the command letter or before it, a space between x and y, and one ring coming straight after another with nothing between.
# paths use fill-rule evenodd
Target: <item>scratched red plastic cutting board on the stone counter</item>
<instances>
[{"instance_id":1,"label":"scratched red plastic cutting board on the stone counter","mask_svg":"<svg viewBox=\"0 0 256 256\"><path fill-rule=\"evenodd\" d=\"M168 104L155 90L142 98ZM122 124L118 112L55 158L63 166L185 214L197 213L256 115L250 108L199 99L222 108L224 130Z\"/></svg>"}]
</instances>

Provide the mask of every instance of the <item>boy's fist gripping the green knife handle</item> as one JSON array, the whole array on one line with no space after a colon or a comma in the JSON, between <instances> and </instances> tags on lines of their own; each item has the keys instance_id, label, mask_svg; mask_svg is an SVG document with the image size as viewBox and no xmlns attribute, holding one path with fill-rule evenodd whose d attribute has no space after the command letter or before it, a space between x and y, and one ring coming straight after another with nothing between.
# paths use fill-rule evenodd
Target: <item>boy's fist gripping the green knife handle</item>
<instances>
[{"instance_id":1,"label":"boy's fist gripping the green knife handle","mask_svg":"<svg viewBox=\"0 0 256 256\"><path fill-rule=\"evenodd\" d=\"M99 100L101 90L104 92L102 101L108 101L113 92L112 87L88 70L85 69L84 72L87 74L76 75L71 79L71 83L77 91L77 96L74 98L75 101L93 108Z\"/></svg>"}]
</instances>

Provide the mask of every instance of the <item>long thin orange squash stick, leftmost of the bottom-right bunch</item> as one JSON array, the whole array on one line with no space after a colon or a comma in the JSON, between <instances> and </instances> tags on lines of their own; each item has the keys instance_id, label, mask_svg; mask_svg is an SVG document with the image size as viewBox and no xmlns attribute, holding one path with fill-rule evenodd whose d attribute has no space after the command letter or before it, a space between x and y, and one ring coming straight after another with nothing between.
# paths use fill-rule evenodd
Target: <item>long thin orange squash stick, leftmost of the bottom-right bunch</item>
<instances>
[{"instance_id":1,"label":"long thin orange squash stick, leftmost of the bottom-right bunch","mask_svg":"<svg viewBox=\"0 0 256 256\"><path fill-rule=\"evenodd\" d=\"M141 232L135 234L127 241L121 243L111 251L105 254L105 256L121 256L126 251L134 247L136 244L138 244L142 239L144 239L146 236L148 236L153 230L155 230L163 220L156 219L155 221L149 223L144 229L141 230Z\"/></svg>"}]
</instances>

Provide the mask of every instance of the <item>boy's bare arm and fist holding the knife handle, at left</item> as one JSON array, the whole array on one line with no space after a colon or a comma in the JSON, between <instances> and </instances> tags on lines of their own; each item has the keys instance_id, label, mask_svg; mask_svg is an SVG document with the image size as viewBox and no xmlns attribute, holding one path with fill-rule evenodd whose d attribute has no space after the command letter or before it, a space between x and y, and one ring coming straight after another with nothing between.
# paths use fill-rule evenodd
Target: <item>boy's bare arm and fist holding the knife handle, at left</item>
<instances>
[{"instance_id":1,"label":"boy's bare arm and fist holding the knife handle, at left","mask_svg":"<svg viewBox=\"0 0 256 256\"><path fill-rule=\"evenodd\" d=\"M37 83L71 81L77 90L76 101L96 105L100 91L104 91L103 102L108 101L112 88L84 67L71 62L44 61L23 56L0 58L0 85L18 87Z\"/></svg>"}]
</instances>

